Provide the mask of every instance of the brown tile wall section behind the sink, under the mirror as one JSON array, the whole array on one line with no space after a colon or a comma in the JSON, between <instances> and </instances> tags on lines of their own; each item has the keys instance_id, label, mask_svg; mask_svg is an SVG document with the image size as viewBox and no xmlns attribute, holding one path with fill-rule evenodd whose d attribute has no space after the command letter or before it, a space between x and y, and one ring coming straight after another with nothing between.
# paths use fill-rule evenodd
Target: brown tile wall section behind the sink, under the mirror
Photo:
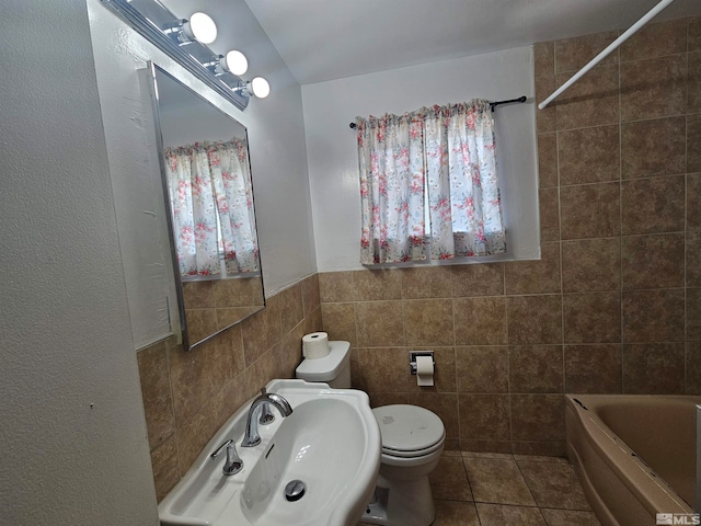
<instances>
[{"instance_id":1,"label":"brown tile wall section behind the sink, under the mirror","mask_svg":"<svg viewBox=\"0 0 701 526\"><path fill-rule=\"evenodd\" d=\"M321 327L313 275L193 351L170 339L138 353L159 501L235 410L271 379L294 377L302 336Z\"/></svg>"}]
</instances>

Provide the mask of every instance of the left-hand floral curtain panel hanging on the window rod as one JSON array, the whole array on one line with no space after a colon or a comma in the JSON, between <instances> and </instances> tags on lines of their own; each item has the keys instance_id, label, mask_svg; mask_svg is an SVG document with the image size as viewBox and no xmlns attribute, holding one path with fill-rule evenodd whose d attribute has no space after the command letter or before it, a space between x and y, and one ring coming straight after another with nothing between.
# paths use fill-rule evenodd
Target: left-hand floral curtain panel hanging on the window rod
<instances>
[{"instance_id":1,"label":"left-hand floral curtain panel hanging on the window rod","mask_svg":"<svg viewBox=\"0 0 701 526\"><path fill-rule=\"evenodd\" d=\"M426 259L421 116L358 117L363 264Z\"/></svg>"}]
</instances>

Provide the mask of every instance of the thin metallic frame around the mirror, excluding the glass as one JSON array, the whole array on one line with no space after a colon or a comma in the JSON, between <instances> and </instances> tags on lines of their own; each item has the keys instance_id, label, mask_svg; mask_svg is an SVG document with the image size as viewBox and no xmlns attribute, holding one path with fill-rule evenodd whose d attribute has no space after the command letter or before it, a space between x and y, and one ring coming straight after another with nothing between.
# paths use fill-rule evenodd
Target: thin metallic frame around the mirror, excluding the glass
<instances>
[{"instance_id":1,"label":"thin metallic frame around the mirror, excluding the glass","mask_svg":"<svg viewBox=\"0 0 701 526\"><path fill-rule=\"evenodd\" d=\"M215 332L212 332L211 334L207 335L206 338L198 340L197 342L191 342L189 341L189 332L187 331L187 319L185 316L185 298L184 298L184 293L183 293L183 279L181 277L180 274L180 264L179 264L179 260L177 260L177 245L175 243L175 233L174 233L174 229L173 229L173 210L171 208L171 203L169 199L169 187L168 187L168 175L165 173L165 157L164 157L164 145L163 145L163 133L162 133L162 128L161 128L161 116L160 116L160 108L159 108L159 95L158 95L158 83L157 83L157 72L159 75L164 75L165 77L168 77L170 80L172 80L173 82L176 82L177 84L181 85L181 88L189 91L194 96L197 96L200 101L203 101L206 104L209 104L211 107L214 107L215 110L217 110L219 113L221 113L221 115L226 118L231 119L233 123L238 124L239 126L241 126L245 133L245 139L246 139L246 148L249 149L249 170L251 170L251 158L250 158L250 148L248 146L249 142L249 130L248 128L239 123L235 118L233 118L231 115L227 114L226 112L223 112L221 108L217 107L215 104L212 104L210 101L208 101L206 98L204 98L202 94L197 93L196 91L194 91L193 89L188 88L187 85L185 85L183 82L181 82L180 80L177 80L174 76L172 76L171 73L169 73L165 69L159 67L157 64L154 64L152 60L149 60L147 62L147 67L143 70L145 71L145 76L147 77L147 84L148 84L148 89L149 89L149 95L151 99L151 108L153 111L153 127L154 127L154 135L156 135L156 148L158 149L158 159L159 159L159 170L161 172L161 191L163 192L163 201L164 201L164 205L165 205L165 220L168 224L168 239L169 239L169 243L170 243L170 252L171 252L171 262L173 264L173 277L175 279L175 295L177 298L177 311L179 311L179 320L180 320L180 331L181 331L181 338L182 338L182 344L183 347L186 351L192 351L195 347L198 347L199 345L210 341L211 339L216 338L217 335L221 334L222 332L231 329L232 327L241 323L243 320L250 318L251 316L255 315L256 312L260 312L261 310L265 309L266 307L266 301L265 301L265 284L263 283L263 264L261 261L261 253L258 251L257 258L258 258L258 268L260 268L260 279L261 279L261 291L262 291L262 296L263 296L263 305L261 306L260 309L254 310L250 313L248 313L246 316L240 318L239 320L234 321L233 323L228 324L225 328L218 329ZM252 170L251 170L251 175L253 175ZM253 178L251 178L253 179ZM253 181L251 180L251 188L253 191ZM255 199L252 195L252 206L253 206L253 214L255 216ZM257 232L257 221L256 221L256 229L255 229L255 237L258 237L258 232ZM258 240L260 243L260 240Z\"/></svg>"}]
</instances>

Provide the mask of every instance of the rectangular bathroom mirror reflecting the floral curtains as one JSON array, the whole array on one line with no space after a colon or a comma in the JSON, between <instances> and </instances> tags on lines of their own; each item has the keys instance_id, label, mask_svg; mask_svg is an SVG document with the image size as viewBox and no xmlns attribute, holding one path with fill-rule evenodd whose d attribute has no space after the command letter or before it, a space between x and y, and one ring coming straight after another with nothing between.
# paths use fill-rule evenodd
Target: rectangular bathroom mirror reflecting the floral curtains
<instances>
[{"instance_id":1,"label":"rectangular bathroom mirror reflecting the floral curtains","mask_svg":"<svg viewBox=\"0 0 701 526\"><path fill-rule=\"evenodd\" d=\"M185 348L265 308L246 128L153 64L153 103Z\"/></svg>"}]
</instances>

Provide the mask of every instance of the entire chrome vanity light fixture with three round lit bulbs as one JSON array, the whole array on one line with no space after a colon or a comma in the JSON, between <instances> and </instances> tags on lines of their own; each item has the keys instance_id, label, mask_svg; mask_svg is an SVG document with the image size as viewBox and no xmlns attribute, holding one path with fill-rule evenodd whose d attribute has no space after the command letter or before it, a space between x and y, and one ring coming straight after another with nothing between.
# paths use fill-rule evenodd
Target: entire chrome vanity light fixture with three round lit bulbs
<instances>
[{"instance_id":1,"label":"entire chrome vanity light fixture with three round lit bulbs","mask_svg":"<svg viewBox=\"0 0 701 526\"><path fill-rule=\"evenodd\" d=\"M134 30L202 80L239 110L245 110L251 96L263 99L271 84L262 77L244 81L249 61L235 49L226 55L207 44L217 37L217 24L209 15L196 12L189 19L175 16L161 0L101 0Z\"/></svg>"}]
</instances>

